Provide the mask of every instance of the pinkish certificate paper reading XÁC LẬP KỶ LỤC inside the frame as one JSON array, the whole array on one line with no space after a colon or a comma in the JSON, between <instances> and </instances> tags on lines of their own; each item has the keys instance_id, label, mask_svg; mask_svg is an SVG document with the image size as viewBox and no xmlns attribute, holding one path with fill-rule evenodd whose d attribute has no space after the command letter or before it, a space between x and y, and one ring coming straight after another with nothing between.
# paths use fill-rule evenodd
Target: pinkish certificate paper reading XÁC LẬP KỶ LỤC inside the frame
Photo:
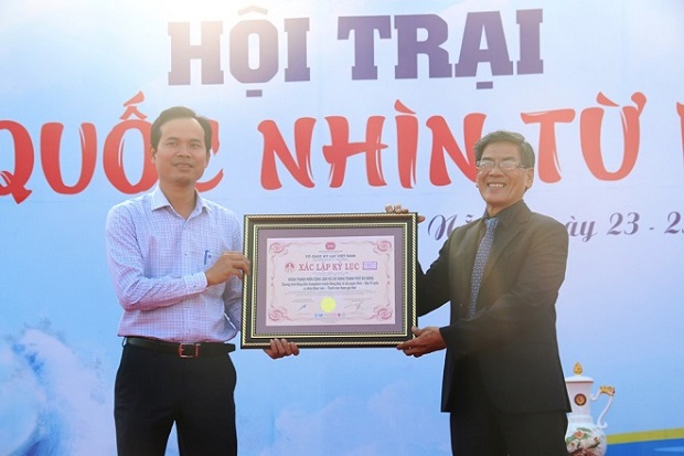
<instances>
[{"instance_id":1,"label":"pinkish certificate paper reading X\u00c1C L\u1eacP K\u1ef6 L\u1ee4C inside the frame","mask_svg":"<svg viewBox=\"0 0 684 456\"><path fill-rule=\"evenodd\" d=\"M267 326L393 325L394 237L269 238Z\"/></svg>"}]
</instances>

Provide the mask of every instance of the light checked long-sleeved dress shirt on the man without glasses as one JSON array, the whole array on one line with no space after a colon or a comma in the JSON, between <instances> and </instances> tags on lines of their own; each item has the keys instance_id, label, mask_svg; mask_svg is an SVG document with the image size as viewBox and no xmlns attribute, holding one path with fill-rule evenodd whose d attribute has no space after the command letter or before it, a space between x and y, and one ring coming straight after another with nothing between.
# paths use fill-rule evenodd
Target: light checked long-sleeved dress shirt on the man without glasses
<instances>
[{"instance_id":1,"label":"light checked long-sleeved dress shirt on the man without glasses","mask_svg":"<svg viewBox=\"0 0 684 456\"><path fill-rule=\"evenodd\" d=\"M241 328L242 282L206 286L204 272L242 251L235 214L197 193L188 220L158 187L107 215L109 272L124 315L119 336L172 342L225 342Z\"/></svg>"}]
</instances>

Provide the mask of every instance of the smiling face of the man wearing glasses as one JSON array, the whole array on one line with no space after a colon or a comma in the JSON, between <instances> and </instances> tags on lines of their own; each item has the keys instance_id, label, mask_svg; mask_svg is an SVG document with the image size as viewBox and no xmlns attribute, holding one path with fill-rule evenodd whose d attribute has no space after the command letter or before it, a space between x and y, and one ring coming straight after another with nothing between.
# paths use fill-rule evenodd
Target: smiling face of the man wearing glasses
<instances>
[{"instance_id":1,"label":"smiling face of the man wearing glasses","mask_svg":"<svg viewBox=\"0 0 684 456\"><path fill-rule=\"evenodd\" d=\"M534 168L513 168L502 171L499 163L515 161L521 163L520 148L509 141L496 141L487 145L480 161L493 161L491 169L478 169L475 185L487 202L487 212L495 215L501 210L523 199L525 190L532 187Z\"/></svg>"}]
</instances>

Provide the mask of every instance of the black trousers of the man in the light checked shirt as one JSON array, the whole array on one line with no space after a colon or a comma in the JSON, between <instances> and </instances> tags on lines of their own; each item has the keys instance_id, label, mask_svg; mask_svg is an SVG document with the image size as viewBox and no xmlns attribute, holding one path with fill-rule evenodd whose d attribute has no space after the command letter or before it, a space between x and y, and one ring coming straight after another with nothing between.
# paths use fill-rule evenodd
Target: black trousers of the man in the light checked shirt
<instances>
[{"instance_id":1,"label":"black trousers of the man in the light checked shirt","mask_svg":"<svg viewBox=\"0 0 684 456\"><path fill-rule=\"evenodd\" d=\"M116 377L119 456L163 456L175 423L183 456L237 454L229 356L179 358L127 344Z\"/></svg>"}]
</instances>

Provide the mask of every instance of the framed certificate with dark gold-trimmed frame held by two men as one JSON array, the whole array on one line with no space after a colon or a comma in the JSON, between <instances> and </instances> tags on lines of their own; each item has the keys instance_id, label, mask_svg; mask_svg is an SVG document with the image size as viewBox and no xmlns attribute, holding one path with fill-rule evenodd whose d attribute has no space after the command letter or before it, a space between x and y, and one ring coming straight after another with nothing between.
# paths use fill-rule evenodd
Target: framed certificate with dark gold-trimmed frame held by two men
<instances>
[{"instance_id":1,"label":"framed certificate with dark gold-trimmed frame held by two men","mask_svg":"<svg viewBox=\"0 0 684 456\"><path fill-rule=\"evenodd\" d=\"M242 347L412 339L416 226L416 213L245 215Z\"/></svg>"}]
</instances>

